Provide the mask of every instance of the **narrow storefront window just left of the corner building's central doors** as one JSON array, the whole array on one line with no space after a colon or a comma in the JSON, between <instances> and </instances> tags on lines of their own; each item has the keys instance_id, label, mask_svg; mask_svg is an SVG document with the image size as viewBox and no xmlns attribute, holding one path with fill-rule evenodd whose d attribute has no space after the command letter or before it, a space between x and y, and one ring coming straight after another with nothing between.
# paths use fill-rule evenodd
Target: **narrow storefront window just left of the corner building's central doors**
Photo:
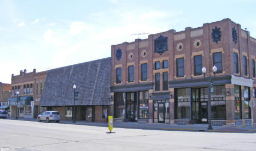
<instances>
[{"instance_id":1,"label":"narrow storefront window just left of the corner building's central doors","mask_svg":"<svg viewBox=\"0 0 256 151\"><path fill-rule=\"evenodd\" d=\"M139 92L139 118L148 118L148 91Z\"/></svg>"}]
</instances>

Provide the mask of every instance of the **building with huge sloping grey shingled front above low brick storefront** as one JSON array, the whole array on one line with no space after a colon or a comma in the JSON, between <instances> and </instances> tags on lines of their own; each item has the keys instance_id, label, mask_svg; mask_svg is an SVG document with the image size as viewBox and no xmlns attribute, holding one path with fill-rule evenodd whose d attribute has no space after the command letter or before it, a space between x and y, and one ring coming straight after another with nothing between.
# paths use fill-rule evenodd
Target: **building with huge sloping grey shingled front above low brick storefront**
<instances>
[{"instance_id":1,"label":"building with huge sloping grey shingled front above low brick storefront","mask_svg":"<svg viewBox=\"0 0 256 151\"><path fill-rule=\"evenodd\" d=\"M109 87L110 58L48 70L40 106L59 111L61 120L72 120L75 104L75 120L107 122Z\"/></svg>"}]
</instances>

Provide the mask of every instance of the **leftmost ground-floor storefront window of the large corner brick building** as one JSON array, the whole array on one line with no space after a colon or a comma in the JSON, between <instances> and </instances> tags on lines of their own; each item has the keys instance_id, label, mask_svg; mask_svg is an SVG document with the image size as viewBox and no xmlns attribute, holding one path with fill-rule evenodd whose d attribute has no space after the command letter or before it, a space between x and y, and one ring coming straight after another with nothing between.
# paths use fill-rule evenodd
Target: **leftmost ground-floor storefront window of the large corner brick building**
<instances>
[{"instance_id":1,"label":"leftmost ground-floor storefront window of the large corner brick building","mask_svg":"<svg viewBox=\"0 0 256 151\"><path fill-rule=\"evenodd\" d=\"M115 118L124 118L125 116L125 93L114 94Z\"/></svg>"}]
</instances>

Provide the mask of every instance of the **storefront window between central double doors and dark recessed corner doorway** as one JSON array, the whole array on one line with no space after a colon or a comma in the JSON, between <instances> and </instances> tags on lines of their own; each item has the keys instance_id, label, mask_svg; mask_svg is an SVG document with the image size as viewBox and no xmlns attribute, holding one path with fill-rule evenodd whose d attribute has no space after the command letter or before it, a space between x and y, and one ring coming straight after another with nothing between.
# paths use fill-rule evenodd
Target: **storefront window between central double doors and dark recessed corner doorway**
<instances>
[{"instance_id":1,"label":"storefront window between central double doors and dark recessed corner doorway","mask_svg":"<svg viewBox=\"0 0 256 151\"><path fill-rule=\"evenodd\" d=\"M190 118L189 88L177 89L175 99L176 119Z\"/></svg>"}]
</instances>

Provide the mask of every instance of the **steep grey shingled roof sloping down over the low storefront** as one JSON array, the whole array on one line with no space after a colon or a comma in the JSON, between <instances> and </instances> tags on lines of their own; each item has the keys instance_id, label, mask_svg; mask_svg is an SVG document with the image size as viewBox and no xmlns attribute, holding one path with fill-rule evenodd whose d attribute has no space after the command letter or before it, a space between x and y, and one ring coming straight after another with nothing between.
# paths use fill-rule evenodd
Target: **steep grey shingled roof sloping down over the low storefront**
<instances>
[{"instance_id":1,"label":"steep grey shingled roof sloping down over the low storefront","mask_svg":"<svg viewBox=\"0 0 256 151\"><path fill-rule=\"evenodd\" d=\"M110 57L48 70L41 106L109 105Z\"/></svg>"}]
</instances>

